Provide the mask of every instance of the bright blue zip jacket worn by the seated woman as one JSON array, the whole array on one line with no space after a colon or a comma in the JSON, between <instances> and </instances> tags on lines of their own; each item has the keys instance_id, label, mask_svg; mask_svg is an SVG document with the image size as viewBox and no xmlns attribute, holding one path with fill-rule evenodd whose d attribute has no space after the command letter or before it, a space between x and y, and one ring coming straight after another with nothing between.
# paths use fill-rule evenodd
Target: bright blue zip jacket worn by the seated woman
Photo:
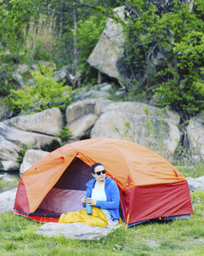
<instances>
[{"instance_id":1,"label":"bright blue zip jacket worn by the seated woman","mask_svg":"<svg viewBox=\"0 0 204 256\"><path fill-rule=\"evenodd\" d=\"M96 179L90 180L87 185L87 194L86 197L90 198L92 194L92 190L94 188L94 183ZM107 209L111 212L112 220L120 219L119 215L119 204L120 204L120 193L119 189L117 188L117 184L111 177L105 177L105 195L107 201L96 201L96 207Z\"/></svg>"}]
</instances>

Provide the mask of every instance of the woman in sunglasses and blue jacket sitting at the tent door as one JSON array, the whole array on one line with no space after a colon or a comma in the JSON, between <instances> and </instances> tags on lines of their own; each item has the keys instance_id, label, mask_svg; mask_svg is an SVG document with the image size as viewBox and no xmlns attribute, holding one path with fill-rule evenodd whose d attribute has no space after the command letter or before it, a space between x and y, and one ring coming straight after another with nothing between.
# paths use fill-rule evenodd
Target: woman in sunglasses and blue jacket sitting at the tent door
<instances>
[{"instance_id":1,"label":"woman in sunglasses and blue jacket sitting at the tent door","mask_svg":"<svg viewBox=\"0 0 204 256\"><path fill-rule=\"evenodd\" d=\"M116 182L105 177L105 168L100 163L92 166L94 179L87 185L86 196L82 198L83 210L61 214L59 223L82 223L92 226L115 226L120 219L120 194ZM86 203L92 206L92 214L87 214Z\"/></svg>"}]
</instances>

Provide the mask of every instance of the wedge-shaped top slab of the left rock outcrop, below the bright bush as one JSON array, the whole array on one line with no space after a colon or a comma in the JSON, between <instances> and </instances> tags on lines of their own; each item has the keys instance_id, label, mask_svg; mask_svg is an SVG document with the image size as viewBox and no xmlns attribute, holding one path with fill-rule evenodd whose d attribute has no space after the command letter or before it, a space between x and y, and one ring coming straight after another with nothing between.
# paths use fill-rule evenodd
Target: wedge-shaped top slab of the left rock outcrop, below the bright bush
<instances>
[{"instance_id":1,"label":"wedge-shaped top slab of the left rock outcrop, below the bright bush","mask_svg":"<svg viewBox=\"0 0 204 256\"><path fill-rule=\"evenodd\" d=\"M59 108L50 108L39 113L17 116L8 120L9 125L23 130L59 137L63 120Z\"/></svg>"}]
</instances>

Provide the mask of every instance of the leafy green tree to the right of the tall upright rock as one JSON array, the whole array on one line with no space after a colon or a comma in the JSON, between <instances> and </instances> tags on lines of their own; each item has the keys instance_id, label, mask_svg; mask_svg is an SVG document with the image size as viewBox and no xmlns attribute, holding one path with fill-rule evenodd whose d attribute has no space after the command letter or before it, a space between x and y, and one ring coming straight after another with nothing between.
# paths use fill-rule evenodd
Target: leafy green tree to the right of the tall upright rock
<instances>
[{"instance_id":1,"label":"leafy green tree to the right of the tall upright rock","mask_svg":"<svg viewBox=\"0 0 204 256\"><path fill-rule=\"evenodd\" d=\"M138 93L157 87L160 103L189 119L204 110L204 3L173 2L173 11L159 16L152 4L126 1L132 9L125 26L124 60L132 79L127 88ZM163 62L155 66L158 52Z\"/></svg>"}]
</instances>

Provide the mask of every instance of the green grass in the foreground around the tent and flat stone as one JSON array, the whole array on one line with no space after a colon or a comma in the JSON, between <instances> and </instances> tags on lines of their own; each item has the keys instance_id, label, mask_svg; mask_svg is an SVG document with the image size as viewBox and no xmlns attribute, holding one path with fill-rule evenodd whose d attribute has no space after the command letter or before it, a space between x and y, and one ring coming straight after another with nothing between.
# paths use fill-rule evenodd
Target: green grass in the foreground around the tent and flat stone
<instances>
[{"instance_id":1,"label":"green grass in the foreground around the tent and flat stone","mask_svg":"<svg viewBox=\"0 0 204 256\"><path fill-rule=\"evenodd\" d=\"M1 255L203 255L204 192L191 193L195 218L165 223L124 225L100 240L46 237L33 231L42 224L11 212L0 214Z\"/></svg>"}]
</instances>

